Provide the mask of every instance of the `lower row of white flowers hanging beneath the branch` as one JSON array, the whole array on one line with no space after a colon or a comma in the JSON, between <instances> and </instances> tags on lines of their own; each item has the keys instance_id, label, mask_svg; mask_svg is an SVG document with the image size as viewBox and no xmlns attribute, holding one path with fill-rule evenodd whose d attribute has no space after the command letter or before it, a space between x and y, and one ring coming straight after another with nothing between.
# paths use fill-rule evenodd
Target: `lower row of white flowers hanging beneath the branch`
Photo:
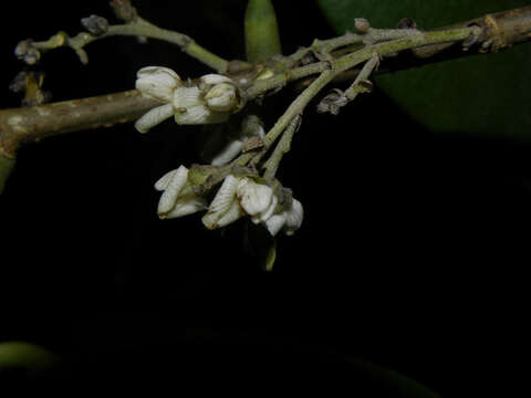
<instances>
[{"instance_id":1,"label":"lower row of white flowers hanging beneath the branch","mask_svg":"<svg viewBox=\"0 0 531 398\"><path fill-rule=\"evenodd\" d=\"M304 214L300 201L291 198L289 206L279 206L273 189L250 177L227 176L210 206L194 192L184 166L163 176L155 188L164 191L158 203L160 218L177 218L208 209L202 217L208 229L226 227L249 216L252 222L263 223L272 235L281 230L291 235L301 227Z\"/></svg>"}]
</instances>

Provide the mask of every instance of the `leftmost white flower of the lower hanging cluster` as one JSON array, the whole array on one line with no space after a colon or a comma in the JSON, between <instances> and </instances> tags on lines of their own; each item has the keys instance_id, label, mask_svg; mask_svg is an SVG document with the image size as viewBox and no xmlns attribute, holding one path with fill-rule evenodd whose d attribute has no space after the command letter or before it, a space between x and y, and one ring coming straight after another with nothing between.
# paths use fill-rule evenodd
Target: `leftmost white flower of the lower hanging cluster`
<instances>
[{"instance_id":1,"label":"leftmost white flower of the lower hanging cluster","mask_svg":"<svg viewBox=\"0 0 531 398\"><path fill-rule=\"evenodd\" d=\"M198 197L188 184L188 169L185 166L165 174L155 184L155 189L164 191L157 210L162 219L183 217L207 208L206 200Z\"/></svg>"}]
</instances>

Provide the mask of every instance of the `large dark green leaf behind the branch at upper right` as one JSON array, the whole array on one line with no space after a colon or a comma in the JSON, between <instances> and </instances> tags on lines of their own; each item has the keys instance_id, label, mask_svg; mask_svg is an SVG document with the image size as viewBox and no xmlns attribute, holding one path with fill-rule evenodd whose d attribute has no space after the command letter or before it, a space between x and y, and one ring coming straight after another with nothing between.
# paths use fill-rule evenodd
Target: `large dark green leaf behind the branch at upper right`
<instances>
[{"instance_id":1,"label":"large dark green leaf behind the branch at upper right","mask_svg":"<svg viewBox=\"0 0 531 398\"><path fill-rule=\"evenodd\" d=\"M523 0L319 0L337 33L354 18L395 28L413 18L434 29L486 13L529 6ZM376 77L376 83L416 121L436 132L531 138L531 45L473 55Z\"/></svg>"}]
</instances>

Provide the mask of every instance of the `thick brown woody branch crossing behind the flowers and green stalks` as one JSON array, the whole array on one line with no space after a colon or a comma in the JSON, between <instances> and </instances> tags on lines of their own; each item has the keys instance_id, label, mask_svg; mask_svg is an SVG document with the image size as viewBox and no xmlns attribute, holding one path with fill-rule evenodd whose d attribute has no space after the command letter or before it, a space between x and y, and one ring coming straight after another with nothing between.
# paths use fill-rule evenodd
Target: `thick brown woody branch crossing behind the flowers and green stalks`
<instances>
[{"instance_id":1,"label":"thick brown woody branch crossing behind the flowers and green stalks","mask_svg":"<svg viewBox=\"0 0 531 398\"><path fill-rule=\"evenodd\" d=\"M467 27L470 24L482 29L481 40L485 40L485 42L487 43L490 42L490 45L492 45L492 43L494 42L498 43L496 45L496 51L508 49L513 44L523 43L531 40L531 7L503 11L496 14L488 14L471 21L462 22L457 27ZM494 29L494 27L497 28ZM498 40L494 40L496 38L498 38ZM502 42L500 41L500 38L503 39ZM424 64L428 62L439 62L445 61L448 57L451 59L455 56L467 56L475 53L494 50L494 48L486 49L482 45L479 45L479 49L477 50L473 50L473 48L471 48L468 49L468 51L462 51L461 46L454 46L456 48L456 51L451 53L448 52L448 48L451 46L452 43L462 40L462 38L454 39L452 41L448 41L441 45L425 45L425 43L419 43L418 45L421 45L421 48L416 49L414 52L408 52L408 56L414 57L413 61L406 61L402 63L399 67L406 69L416 66L418 63ZM378 45L385 44L386 43L384 42ZM408 45L409 48L412 48L413 45L417 44L409 43ZM407 48L408 46L406 45L405 49ZM356 51L352 54L356 54L360 52L363 53L363 51L366 50ZM299 52L299 54L301 53L302 52ZM369 55L365 53L365 57L366 56ZM362 62L363 61L366 61L366 59L362 60ZM378 73L393 71L394 67L385 66L389 62L393 63L394 60L384 60L383 65L378 70ZM355 76L357 76L358 71L353 71L352 67L351 70L347 69L341 73L335 74L334 80L345 77L354 78ZM256 81L244 91L247 100L252 100L258 96L264 95L267 92L282 87L289 82L322 73L326 69L330 69L329 62L315 62L309 65L295 66L291 70L279 73L269 80ZM76 116L73 114L64 113L61 115L61 123L54 123L53 121L50 122L49 116L49 112L52 111L53 114L53 109L55 109L55 106L58 106L58 104L46 104L31 108L12 108L0 111L0 153L3 151L4 155L12 158L14 156L14 150L20 146L20 144L25 142L35 140L38 138L46 137L50 135L91 128L92 126L96 125L112 125L117 123L131 122L138 117L142 113L146 112L147 109L157 104L153 101L146 100L138 94L125 95L126 93L131 92L115 93L85 100L74 100L77 111L81 113L81 115ZM97 106L98 113L102 113L101 123L98 123L97 113L91 112L91 108L93 106ZM131 108L132 112L126 112L126 109L128 108ZM40 109L41 112L39 112L38 109ZM127 113L128 117L124 117L124 113ZM27 121L28 117L30 117L30 119ZM13 123L13 121L18 121L18 123ZM28 130L28 128L31 126L31 133L23 134L20 128L21 126L24 130ZM251 157L249 154L244 155L247 155L247 157Z\"/></svg>"}]
</instances>

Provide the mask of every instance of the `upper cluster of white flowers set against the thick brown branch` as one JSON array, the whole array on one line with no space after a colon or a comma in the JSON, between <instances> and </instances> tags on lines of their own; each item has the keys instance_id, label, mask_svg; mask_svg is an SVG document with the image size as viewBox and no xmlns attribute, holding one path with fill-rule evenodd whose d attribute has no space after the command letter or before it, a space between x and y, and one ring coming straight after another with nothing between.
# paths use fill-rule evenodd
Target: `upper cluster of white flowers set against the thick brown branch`
<instances>
[{"instance_id":1,"label":"upper cluster of white flowers set against the thick brown branch","mask_svg":"<svg viewBox=\"0 0 531 398\"><path fill-rule=\"evenodd\" d=\"M147 66L137 72L136 88L164 103L136 122L135 127L140 133L147 133L171 116L180 125L222 123L239 105L235 83L219 74L207 74L197 83L190 83L183 82L168 67Z\"/></svg>"}]
</instances>

